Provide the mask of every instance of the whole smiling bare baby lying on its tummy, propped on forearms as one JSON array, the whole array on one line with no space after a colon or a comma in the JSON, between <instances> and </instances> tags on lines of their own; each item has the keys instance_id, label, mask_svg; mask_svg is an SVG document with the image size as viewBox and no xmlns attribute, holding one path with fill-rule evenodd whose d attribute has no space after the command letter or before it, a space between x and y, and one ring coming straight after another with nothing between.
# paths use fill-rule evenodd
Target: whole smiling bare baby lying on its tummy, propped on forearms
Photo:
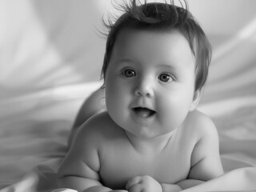
<instances>
[{"instance_id":1,"label":"whole smiling bare baby lying on its tummy, propped on forearms","mask_svg":"<svg viewBox=\"0 0 256 192\"><path fill-rule=\"evenodd\" d=\"M122 7L110 23L104 86L78 114L59 186L172 192L222 175L218 132L196 110L211 54L202 28L186 6L133 0Z\"/></svg>"}]
</instances>

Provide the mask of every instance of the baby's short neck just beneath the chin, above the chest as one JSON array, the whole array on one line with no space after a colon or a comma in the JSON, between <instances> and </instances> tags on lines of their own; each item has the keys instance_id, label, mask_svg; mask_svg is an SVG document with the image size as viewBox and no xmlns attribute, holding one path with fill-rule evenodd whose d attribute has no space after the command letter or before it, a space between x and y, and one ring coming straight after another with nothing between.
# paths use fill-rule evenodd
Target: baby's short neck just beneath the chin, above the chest
<instances>
[{"instance_id":1,"label":"baby's short neck just beneath the chin, above the chest","mask_svg":"<svg viewBox=\"0 0 256 192\"><path fill-rule=\"evenodd\" d=\"M154 138L138 138L136 135L126 131L126 136L134 147L134 150L137 150L140 154L155 154L165 150L166 146L173 140L172 138L175 132L176 130L173 130L170 133Z\"/></svg>"}]
</instances>

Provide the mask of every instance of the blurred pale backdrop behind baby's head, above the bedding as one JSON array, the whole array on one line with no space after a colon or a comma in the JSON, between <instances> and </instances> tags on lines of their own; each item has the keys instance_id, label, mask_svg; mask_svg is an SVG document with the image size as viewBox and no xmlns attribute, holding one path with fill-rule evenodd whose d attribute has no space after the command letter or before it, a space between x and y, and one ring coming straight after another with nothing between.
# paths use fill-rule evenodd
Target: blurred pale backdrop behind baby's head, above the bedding
<instances>
[{"instance_id":1,"label":"blurred pale backdrop behind baby's head, above the bedding","mask_svg":"<svg viewBox=\"0 0 256 192\"><path fill-rule=\"evenodd\" d=\"M99 31L106 32L102 14L113 12L111 2L0 0L0 98L98 81L106 43ZM256 1L188 3L213 45L209 91L256 76Z\"/></svg>"}]
</instances>

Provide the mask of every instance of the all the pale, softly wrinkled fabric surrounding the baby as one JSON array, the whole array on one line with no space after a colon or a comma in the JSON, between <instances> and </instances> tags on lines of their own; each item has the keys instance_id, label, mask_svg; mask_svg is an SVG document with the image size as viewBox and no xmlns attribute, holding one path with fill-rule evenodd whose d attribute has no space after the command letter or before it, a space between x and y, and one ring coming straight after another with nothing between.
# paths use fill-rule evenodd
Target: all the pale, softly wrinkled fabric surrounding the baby
<instances>
[{"instance_id":1,"label":"all the pale, softly wrinkled fabric surrounding the baby","mask_svg":"<svg viewBox=\"0 0 256 192\"><path fill-rule=\"evenodd\" d=\"M198 110L218 128L226 172L191 191L256 190L255 7L191 1L213 45ZM106 39L95 26L107 10L106 0L0 2L0 192L56 188L74 117L102 83Z\"/></svg>"}]
</instances>

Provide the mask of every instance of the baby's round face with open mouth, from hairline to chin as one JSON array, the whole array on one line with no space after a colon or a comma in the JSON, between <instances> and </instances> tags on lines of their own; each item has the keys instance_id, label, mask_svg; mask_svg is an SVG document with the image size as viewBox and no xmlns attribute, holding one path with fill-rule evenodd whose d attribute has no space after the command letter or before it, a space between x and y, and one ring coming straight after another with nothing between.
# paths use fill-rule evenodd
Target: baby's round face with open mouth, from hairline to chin
<instances>
[{"instance_id":1,"label":"baby's round face with open mouth, from hairline to chin","mask_svg":"<svg viewBox=\"0 0 256 192\"><path fill-rule=\"evenodd\" d=\"M177 30L122 30L106 71L106 107L140 138L178 128L194 109L195 58Z\"/></svg>"}]
</instances>

